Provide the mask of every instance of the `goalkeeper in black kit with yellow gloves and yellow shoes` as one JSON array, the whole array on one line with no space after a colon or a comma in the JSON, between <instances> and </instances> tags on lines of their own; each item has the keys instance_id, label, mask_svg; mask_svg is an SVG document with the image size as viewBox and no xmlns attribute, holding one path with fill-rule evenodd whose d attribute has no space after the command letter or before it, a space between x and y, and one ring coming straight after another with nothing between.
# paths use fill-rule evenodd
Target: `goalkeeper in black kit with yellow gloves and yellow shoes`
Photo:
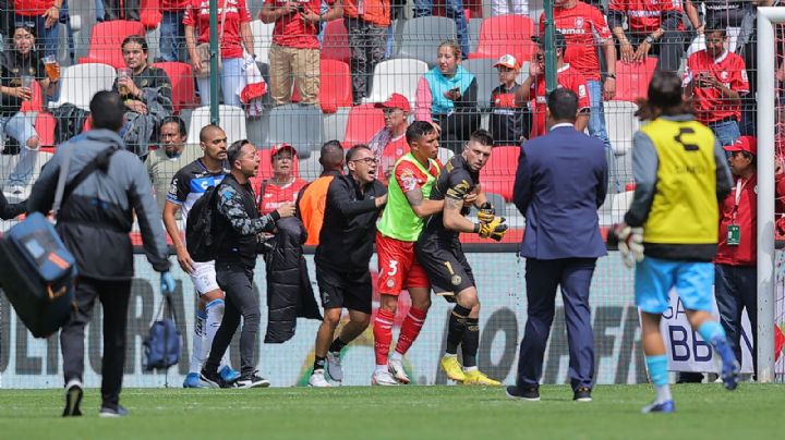
<instances>
[{"instance_id":1,"label":"goalkeeper in black kit with yellow gloves and yellow shoes","mask_svg":"<svg viewBox=\"0 0 785 440\"><path fill-rule=\"evenodd\" d=\"M500 384L482 374L476 366L480 301L472 269L459 241L461 232L499 241L507 231L505 219L494 215L480 186L480 170L487 163L492 149L491 135L478 130L471 134L463 152L447 162L430 196L431 200L444 200L444 210L428 217L414 246L434 292L456 303L449 319L447 352L440 365L448 378L467 384ZM482 208L479 223L464 217L468 208L464 208L463 200L473 192L479 193L475 206ZM457 357L458 345L461 345L463 355L462 369Z\"/></svg>"}]
</instances>

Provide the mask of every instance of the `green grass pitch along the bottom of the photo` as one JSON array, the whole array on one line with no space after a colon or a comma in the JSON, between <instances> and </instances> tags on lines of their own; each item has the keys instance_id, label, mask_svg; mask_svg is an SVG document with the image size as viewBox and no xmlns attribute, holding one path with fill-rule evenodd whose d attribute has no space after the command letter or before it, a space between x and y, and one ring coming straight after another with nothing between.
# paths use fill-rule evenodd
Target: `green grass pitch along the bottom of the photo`
<instances>
[{"instance_id":1,"label":"green grass pitch along the bottom of the photo","mask_svg":"<svg viewBox=\"0 0 785 440\"><path fill-rule=\"evenodd\" d=\"M648 386L597 386L576 403L566 386L541 402L510 401L503 388L345 387L329 390L129 389L131 415L63 419L60 390L0 390L0 439L776 439L785 436L785 386L673 387L676 414L640 414Z\"/></svg>"}]
</instances>

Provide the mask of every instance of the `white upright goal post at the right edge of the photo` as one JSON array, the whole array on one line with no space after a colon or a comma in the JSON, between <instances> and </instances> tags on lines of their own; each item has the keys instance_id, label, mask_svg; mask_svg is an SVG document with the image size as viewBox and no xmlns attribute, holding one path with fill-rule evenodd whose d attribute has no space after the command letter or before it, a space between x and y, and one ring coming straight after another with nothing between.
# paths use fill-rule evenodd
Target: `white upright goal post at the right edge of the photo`
<instances>
[{"instance_id":1,"label":"white upright goal post at the right edge of the photo","mask_svg":"<svg viewBox=\"0 0 785 440\"><path fill-rule=\"evenodd\" d=\"M758 381L774 380L774 160L776 44L785 8L758 8Z\"/></svg>"}]
</instances>

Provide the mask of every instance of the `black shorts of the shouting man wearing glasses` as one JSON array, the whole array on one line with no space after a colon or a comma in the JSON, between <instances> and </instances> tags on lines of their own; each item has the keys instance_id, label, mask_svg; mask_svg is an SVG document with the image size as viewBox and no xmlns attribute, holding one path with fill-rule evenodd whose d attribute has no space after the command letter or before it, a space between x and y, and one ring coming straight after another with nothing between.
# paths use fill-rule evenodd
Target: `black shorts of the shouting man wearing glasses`
<instances>
[{"instance_id":1,"label":"black shorts of the shouting man wearing glasses","mask_svg":"<svg viewBox=\"0 0 785 440\"><path fill-rule=\"evenodd\" d=\"M322 307L348 308L371 314L373 285L371 272L342 272L316 265L316 283L319 286Z\"/></svg>"}]
</instances>

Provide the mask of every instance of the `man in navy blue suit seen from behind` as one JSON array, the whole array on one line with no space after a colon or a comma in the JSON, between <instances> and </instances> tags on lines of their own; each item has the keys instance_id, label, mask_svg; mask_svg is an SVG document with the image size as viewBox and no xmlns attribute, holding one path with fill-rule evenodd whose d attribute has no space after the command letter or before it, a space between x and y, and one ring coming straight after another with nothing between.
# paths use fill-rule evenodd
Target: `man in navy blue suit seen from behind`
<instances>
[{"instance_id":1,"label":"man in navy blue suit seen from behind","mask_svg":"<svg viewBox=\"0 0 785 440\"><path fill-rule=\"evenodd\" d=\"M607 162L602 142L576 131L578 97L557 88L547 99L548 133L521 147L515 204L527 219L520 255L527 259L528 315L511 399L539 401L545 345L561 286L573 400L591 401L594 342L589 286L605 255L596 210L605 200Z\"/></svg>"}]
</instances>

